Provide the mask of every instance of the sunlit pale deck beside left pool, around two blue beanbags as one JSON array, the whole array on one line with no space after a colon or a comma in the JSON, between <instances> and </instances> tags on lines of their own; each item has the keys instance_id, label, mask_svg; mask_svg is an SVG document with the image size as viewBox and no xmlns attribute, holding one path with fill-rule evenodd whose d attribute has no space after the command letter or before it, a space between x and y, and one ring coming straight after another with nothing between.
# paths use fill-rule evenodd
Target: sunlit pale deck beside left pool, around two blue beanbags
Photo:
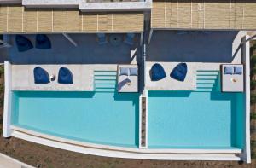
<instances>
[{"instance_id":1,"label":"sunlit pale deck beside left pool, around two blue beanbags","mask_svg":"<svg viewBox=\"0 0 256 168\"><path fill-rule=\"evenodd\" d=\"M35 84L33 69L43 67L55 81L49 84ZM67 67L73 73L73 84L57 82L60 67ZM60 65L12 65L12 90L50 90L50 91L93 91L94 71L117 71L117 65L60 64Z\"/></svg>"}]
</instances>

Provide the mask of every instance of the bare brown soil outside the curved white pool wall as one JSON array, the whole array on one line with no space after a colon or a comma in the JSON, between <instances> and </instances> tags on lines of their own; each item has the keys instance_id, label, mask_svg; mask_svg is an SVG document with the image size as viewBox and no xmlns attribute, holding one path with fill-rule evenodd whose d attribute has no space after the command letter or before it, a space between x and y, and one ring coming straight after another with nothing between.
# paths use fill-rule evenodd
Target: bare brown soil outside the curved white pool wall
<instances>
[{"instance_id":1,"label":"bare brown soil outside the curved white pool wall","mask_svg":"<svg viewBox=\"0 0 256 168\"><path fill-rule=\"evenodd\" d=\"M256 105L252 106L252 110ZM254 110L252 113L255 113ZM252 120L252 126L256 126L256 120ZM3 67L0 67L0 134L3 130ZM256 133L251 136L253 142L256 141ZM254 143L253 143L254 144ZM255 144L254 144L255 146ZM255 151L253 147L253 151ZM255 151L256 152L256 151ZM254 153L255 153L254 152ZM0 153L7 154L15 159L19 159L28 165L42 168L256 168L255 154L252 164L239 165L235 161L158 161L143 159L114 159L107 157L93 156L89 154L78 154L58 148L49 148L33 142L11 137L5 139L0 137Z\"/></svg>"}]
</instances>

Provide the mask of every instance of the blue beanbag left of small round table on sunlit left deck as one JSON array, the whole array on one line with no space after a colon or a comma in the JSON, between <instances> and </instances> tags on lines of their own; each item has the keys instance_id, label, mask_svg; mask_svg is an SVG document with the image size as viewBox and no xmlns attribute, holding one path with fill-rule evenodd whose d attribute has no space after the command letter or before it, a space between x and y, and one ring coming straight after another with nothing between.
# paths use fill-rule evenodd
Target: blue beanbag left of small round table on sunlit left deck
<instances>
[{"instance_id":1,"label":"blue beanbag left of small round table on sunlit left deck","mask_svg":"<svg viewBox=\"0 0 256 168\"><path fill-rule=\"evenodd\" d=\"M35 84L48 84L49 74L42 67L34 68L34 81Z\"/></svg>"}]
</instances>

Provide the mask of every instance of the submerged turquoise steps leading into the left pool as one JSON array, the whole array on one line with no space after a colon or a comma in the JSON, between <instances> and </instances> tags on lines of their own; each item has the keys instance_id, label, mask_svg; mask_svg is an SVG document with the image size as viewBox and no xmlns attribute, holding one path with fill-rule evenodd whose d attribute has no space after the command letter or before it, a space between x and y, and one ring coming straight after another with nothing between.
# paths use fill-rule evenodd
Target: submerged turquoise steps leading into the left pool
<instances>
[{"instance_id":1,"label":"submerged turquoise steps leading into the left pool","mask_svg":"<svg viewBox=\"0 0 256 168\"><path fill-rule=\"evenodd\" d=\"M116 88L115 71L95 71L94 88L96 92L114 92Z\"/></svg>"}]
</instances>

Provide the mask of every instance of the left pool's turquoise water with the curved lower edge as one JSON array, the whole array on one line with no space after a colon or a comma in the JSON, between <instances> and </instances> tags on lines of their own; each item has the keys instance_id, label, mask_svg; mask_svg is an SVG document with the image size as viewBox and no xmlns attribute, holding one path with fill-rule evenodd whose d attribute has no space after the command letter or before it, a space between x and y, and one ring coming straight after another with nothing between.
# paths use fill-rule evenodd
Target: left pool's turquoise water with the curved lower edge
<instances>
[{"instance_id":1,"label":"left pool's turquoise water with the curved lower edge","mask_svg":"<svg viewBox=\"0 0 256 168\"><path fill-rule=\"evenodd\" d=\"M137 148L138 96L15 91L12 125L82 142Z\"/></svg>"}]
</instances>

